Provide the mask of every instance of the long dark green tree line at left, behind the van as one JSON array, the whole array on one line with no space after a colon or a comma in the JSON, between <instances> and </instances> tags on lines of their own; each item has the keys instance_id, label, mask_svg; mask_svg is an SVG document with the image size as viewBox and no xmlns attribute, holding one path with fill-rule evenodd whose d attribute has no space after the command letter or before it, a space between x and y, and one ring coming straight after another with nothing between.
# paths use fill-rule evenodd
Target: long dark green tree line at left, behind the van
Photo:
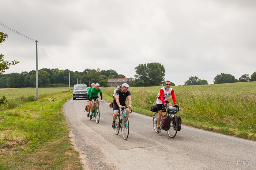
<instances>
[{"instance_id":1,"label":"long dark green tree line at left, behind the van","mask_svg":"<svg viewBox=\"0 0 256 170\"><path fill-rule=\"evenodd\" d=\"M102 87L107 85L108 79L125 78L122 74L117 74L114 70L97 70L86 68L83 72L42 68L38 70L38 87L63 87L69 84L89 84L99 83ZM36 71L23 71L19 73L11 73L0 76L0 88L19 88L19 87L35 87ZM89 85L90 86L90 85Z\"/></svg>"}]
</instances>

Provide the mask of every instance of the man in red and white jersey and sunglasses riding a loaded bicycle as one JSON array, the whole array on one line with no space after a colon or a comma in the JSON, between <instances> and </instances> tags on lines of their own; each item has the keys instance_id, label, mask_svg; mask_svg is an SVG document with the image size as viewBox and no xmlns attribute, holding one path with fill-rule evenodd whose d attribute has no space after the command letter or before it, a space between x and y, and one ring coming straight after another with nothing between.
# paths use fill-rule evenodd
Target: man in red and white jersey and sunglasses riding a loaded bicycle
<instances>
[{"instance_id":1,"label":"man in red and white jersey and sunglasses riding a loaded bicycle","mask_svg":"<svg viewBox=\"0 0 256 170\"><path fill-rule=\"evenodd\" d=\"M162 118L162 106L164 104L165 108L167 106L172 106L172 104L170 102L168 102L168 99L170 98L170 96L172 96L173 99L173 103L175 104L175 107L178 107L177 103L176 103L176 98L174 95L174 90L172 88L170 88L171 86L171 82L169 80L165 81L165 87L162 87L159 91L159 96L157 97L157 111L158 111L158 118L157 118L157 131L161 132L160 130L160 126L159 123L161 121ZM167 112L166 112L167 115Z\"/></svg>"}]
</instances>

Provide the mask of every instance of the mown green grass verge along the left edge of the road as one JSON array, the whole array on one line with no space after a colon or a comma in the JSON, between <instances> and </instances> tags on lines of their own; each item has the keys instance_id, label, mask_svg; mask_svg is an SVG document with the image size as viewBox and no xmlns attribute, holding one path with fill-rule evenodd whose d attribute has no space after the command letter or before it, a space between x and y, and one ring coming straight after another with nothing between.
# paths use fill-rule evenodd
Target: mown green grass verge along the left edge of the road
<instances>
[{"instance_id":1,"label":"mown green grass verge along the left edge of the road","mask_svg":"<svg viewBox=\"0 0 256 170\"><path fill-rule=\"evenodd\" d=\"M0 112L0 169L83 169L62 111L71 96L50 94Z\"/></svg>"}]
</instances>

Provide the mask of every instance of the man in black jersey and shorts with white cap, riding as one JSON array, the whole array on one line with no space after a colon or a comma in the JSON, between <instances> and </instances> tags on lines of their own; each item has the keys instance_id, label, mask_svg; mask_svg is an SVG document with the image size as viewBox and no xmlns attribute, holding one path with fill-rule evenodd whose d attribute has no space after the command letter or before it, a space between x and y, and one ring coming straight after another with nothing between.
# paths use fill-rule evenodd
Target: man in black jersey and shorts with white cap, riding
<instances>
[{"instance_id":1,"label":"man in black jersey and shorts with white cap, riding","mask_svg":"<svg viewBox=\"0 0 256 170\"><path fill-rule=\"evenodd\" d=\"M113 122L112 122L112 127L113 129L116 128L115 122L118 114L118 108L123 108L123 106L126 106L125 104L126 98L128 98L128 103L129 106L128 108L125 109L127 118L129 118L129 108L132 108L132 99L131 99L131 92L128 90L129 85L127 83L122 84L122 88L119 88L116 91L115 98L113 100Z\"/></svg>"}]
</instances>

